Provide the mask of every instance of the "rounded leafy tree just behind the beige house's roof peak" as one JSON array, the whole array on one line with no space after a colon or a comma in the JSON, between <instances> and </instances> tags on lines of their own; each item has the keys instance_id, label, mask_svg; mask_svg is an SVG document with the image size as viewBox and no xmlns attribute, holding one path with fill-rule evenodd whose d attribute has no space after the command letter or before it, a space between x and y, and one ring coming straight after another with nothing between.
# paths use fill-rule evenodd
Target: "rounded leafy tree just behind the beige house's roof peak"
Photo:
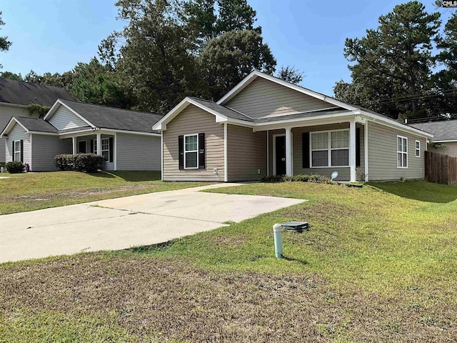
<instances>
[{"instance_id":1,"label":"rounded leafy tree just behind the beige house's roof peak","mask_svg":"<svg viewBox=\"0 0 457 343\"><path fill-rule=\"evenodd\" d=\"M206 44L198 57L208 86L206 94L218 100L253 69L273 74L276 59L257 31L229 31Z\"/></svg>"}]
</instances>

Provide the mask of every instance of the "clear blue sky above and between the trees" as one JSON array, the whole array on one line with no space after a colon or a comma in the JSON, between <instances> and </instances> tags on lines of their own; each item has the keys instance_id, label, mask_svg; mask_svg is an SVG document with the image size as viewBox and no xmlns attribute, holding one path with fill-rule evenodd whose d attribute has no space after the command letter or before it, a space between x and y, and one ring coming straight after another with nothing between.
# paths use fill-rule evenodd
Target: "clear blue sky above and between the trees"
<instances>
[{"instance_id":1,"label":"clear blue sky above and between the trees","mask_svg":"<svg viewBox=\"0 0 457 343\"><path fill-rule=\"evenodd\" d=\"M344 40L378 26L378 16L406 1L248 0L257 11L263 39L281 65L295 66L302 85L333 94L336 81L350 81ZM116 20L115 0L2 0L0 35L13 42L0 53L3 71L38 74L68 71L88 62L101 39L125 23ZM434 0L423 1L435 11ZM441 10L446 14L453 10Z\"/></svg>"}]
</instances>

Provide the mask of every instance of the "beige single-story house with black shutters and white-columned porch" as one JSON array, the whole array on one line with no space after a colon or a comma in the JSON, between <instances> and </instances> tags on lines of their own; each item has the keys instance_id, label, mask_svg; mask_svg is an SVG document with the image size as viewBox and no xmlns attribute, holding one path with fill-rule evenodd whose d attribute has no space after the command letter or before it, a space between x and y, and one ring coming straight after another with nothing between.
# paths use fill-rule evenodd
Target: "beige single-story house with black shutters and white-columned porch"
<instances>
[{"instance_id":1,"label":"beige single-story house with black shutters and white-columned porch","mask_svg":"<svg viewBox=\"0 0 457 343\"><path fill-rule=\"evenodd\" d=\"M338 180L423 179L433 135L253 71L217 103L187 97L153 127L165 181L253 181L338 172Z\"/></svg>"}]
</instances>

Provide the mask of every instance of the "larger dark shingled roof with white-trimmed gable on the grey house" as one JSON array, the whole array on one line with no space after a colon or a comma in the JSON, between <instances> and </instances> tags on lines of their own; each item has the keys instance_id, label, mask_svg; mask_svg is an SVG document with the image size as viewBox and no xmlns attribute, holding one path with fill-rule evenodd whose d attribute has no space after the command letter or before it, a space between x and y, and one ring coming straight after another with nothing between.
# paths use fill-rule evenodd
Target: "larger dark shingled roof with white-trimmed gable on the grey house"
<instances>
[{"instance_id":1,"label":"larger dark shingled roof with white-trimmed gable on the grey house","mask_svg":"<svg viewBox=\"0 0 457 343\"><path fill-rule=\"evenodd\" d=\"M157 131L153 131L152 126L154 126L154 124L162 118L160 114L131 111L129 109L118 109L116 107L58 99L54 106L52 106L46 114L44 119L51 119L59 106L65 106L67 109L86 121L88 124L86 129L92 127L96 129L159 133ZM79 130L81 130L81 127L65 131L66 133L71 133L72 131Z\"/></svg>"}]
</instances>

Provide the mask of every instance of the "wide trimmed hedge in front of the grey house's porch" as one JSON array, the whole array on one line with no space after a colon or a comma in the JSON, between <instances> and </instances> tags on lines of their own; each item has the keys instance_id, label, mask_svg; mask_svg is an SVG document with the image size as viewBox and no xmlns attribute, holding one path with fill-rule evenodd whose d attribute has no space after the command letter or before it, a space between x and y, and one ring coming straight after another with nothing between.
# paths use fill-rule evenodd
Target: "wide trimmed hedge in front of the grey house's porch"
<instances>
[{"instance_id":1,"label":"wide trimmed hedge in front of the grey house's porch","mask_svg":"<svg viewBox=\"0 0 457 343\"><path fill-rule=\"evenodd\" d=\"M57 155L54 164L59 170L94 173L103 169L104 157L96 154Z\"/></svg>"}]
</instances>

